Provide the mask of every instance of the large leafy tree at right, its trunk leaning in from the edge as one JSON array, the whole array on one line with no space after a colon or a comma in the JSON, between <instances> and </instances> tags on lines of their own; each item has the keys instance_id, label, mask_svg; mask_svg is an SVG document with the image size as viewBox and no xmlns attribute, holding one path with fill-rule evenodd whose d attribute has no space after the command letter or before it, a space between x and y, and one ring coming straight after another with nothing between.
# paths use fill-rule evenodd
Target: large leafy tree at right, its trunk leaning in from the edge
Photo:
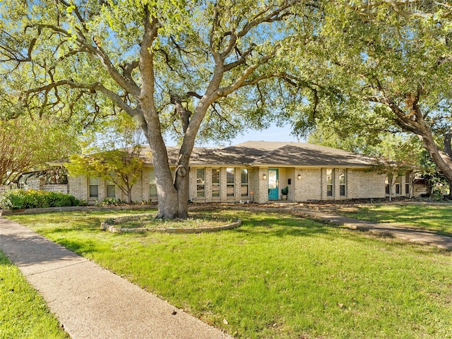
<instances>
[{"instance_id":1,"label":"large leafy tree at right, its trunk leaning in from the edge","mask_svg":"<svg viewBox=\"0 0 452 339\"><path fill-rule=\"evenodd\" d=\"M313 73L337 101L300 129L321 121L339 133L412 133L452 182L451 4L331 1L324 18Z\"/></svg>"}]
</instances>

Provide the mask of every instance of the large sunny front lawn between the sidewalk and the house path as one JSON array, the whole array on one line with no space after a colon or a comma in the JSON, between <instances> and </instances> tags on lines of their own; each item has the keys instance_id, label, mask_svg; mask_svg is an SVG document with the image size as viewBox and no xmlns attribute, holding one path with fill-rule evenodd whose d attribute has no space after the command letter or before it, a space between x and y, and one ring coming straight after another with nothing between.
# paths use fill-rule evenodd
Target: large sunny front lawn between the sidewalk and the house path
<instances>
[{"instance_id":1,"label":"large sunny front lawn between the sidewalk and the house path","mask_svg":"<svg viewBox=\"0 0 452 339\"><path fill-rule=\"evenodd\" d=\"M8 217L236 338L452 338L451 253L273 213L208 234L111 234L102 218Z\"/></svg>"}]
</instances>

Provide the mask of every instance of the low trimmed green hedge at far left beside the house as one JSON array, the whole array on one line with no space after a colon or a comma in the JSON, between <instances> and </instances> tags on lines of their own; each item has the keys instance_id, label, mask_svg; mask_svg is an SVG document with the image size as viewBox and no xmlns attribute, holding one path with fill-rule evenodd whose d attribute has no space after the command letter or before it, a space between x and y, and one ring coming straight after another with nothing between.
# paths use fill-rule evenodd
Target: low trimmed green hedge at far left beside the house
<instances>
[{"instance_id":1,"label":"low trimmed green hedge at far left beside the house","mask_svg":"<svg viewBox=\"0 0 452 339\"><path fill-rule=\"evenodd\" d=\"M7 191L0 200L0 208L8 210L79 205L80 201L71 194L34 189Z\"/></svg>"}]
</instances>

